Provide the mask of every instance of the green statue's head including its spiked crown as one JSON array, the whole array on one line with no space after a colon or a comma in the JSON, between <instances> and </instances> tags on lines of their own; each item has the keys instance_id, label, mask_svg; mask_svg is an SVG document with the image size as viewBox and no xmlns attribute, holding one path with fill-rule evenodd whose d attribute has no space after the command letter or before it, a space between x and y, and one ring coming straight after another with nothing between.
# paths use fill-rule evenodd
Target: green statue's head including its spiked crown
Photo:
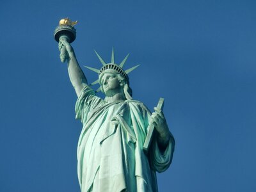
<instances>
[{"instance_id":1,"label":"green statue's head including its spiked crown","mask_svg":"<svg viewBox=\"0 0 256 192\"><path fill-rule=\"evenodd\" d=\"M92 67L84 67L89 68L90 70L93 70L99 74L99 79L92 83L100 84L100 88L97 90L97 92L101 90L106 97L111 97L116 93L124 93L126 99L132 99L132 90L129 87L129 77L127 74L129 74L129 72L137 68L139 65L129 68L128 70L124 70L122 67L124 67L124 63L129 54L124 58L120 65L117 65L115 64L114 60L114 51L112 51L111 63L106 63L96 51L95 53L97 54L103 67L100 68L100 70Z\"/></svg>"}]
</instances>

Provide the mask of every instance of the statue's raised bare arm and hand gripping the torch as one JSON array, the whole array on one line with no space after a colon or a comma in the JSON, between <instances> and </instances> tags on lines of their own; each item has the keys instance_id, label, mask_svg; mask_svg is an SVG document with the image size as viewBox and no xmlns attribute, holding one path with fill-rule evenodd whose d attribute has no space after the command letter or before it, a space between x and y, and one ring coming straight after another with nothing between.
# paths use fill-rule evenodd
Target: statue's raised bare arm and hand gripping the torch
<instances>
[{"instance_id":1,"label":"statue's raised bare arm and hand gripping the torch","mask_svg":"<svg viewBox=\"0 0 256 192\"><path fill-rule=\"evenodd\" d=\"M59 49L60 50L66 49L66 52L67 52L66 57L68 62L68 75L72 83L72 86L76 91L76 95L77 97L79 97L84 86L87 85L87 79L84 76L84 73L77 62L74 49L71 47L71 45L67 42L65 38L60 39Z\"/></svg>"}]
</instances>

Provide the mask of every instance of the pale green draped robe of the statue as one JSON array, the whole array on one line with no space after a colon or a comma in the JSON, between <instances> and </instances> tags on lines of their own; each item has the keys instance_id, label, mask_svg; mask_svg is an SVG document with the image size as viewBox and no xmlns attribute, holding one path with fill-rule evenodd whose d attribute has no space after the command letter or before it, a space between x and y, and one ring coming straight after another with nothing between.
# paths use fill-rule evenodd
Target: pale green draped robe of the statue
<instances>
[{"instance_id":1,"label":"pale green draped robe of the statue","mask_svg":"<svg viewBox=\"0 0 256 192\"><path fill-rule=\"evenodd\" d=\"M152 141L143 152L150 111L143 103L106 103L86 86L76 102L76 118L83 123L77 146L77 174L82 192L157 191L156 171L172 162L172 134L166 150Z\"/></svg>"}]
</instances>

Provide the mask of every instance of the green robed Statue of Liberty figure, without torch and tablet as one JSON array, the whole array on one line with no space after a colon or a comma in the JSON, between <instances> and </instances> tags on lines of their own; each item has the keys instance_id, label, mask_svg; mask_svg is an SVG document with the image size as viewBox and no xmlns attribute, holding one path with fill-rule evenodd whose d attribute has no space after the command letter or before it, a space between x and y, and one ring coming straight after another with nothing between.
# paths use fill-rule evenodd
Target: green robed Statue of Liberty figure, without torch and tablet
<instances>
[{"instance_id":1,"label":"green robed Statue of Liberty figure, without torch and tablet","mask_svg":"<svg viewBox=\"0 0 256 192\"><path fill-rule=\"evenodd\" d=\"M117 65L112 51L106 63L96 52L102 67L87 67L99 74L100 90L106 97L97 97L84 76L74 49L67 38L60 38L59 49L65 50L68 75L77 94L76 118L81 120L77 146L77 174L82 192L156 192L156 172L164 172L172 163L175 141L168 129L163 111L150 113L138 100L132 99L124 60ZM63 52L63 51L62 51ZM143 143L148 125L154 125L154 138L148 152Z\"/></svg>"}]
</instances>

